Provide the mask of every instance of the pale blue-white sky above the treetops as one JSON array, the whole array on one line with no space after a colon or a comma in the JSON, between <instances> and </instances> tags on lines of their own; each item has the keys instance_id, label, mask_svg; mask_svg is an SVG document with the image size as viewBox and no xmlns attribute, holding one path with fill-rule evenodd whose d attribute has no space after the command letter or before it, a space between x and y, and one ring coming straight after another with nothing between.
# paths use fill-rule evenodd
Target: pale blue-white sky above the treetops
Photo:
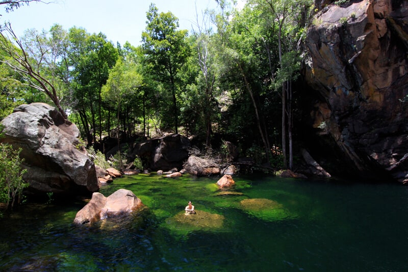
<instances>
[{"instance_id":1,"label":"pale blue-white sky above the treetops","mask_svg":"<svg viewBox=\"0 0 408 272\"><path fill-rule=\"evenodd\" d=\"M43 0L50 2L52 0ZM139 45L146 26L146 12L155 3L159 12L171 11L179 18L180 28L191 30L199 14L206 8L216 8L215 0L54 0L56 4L31 3L13 12L0 9L0 20L10 21L17 36L24 30L49 30L55 23L68 30L82 27L89 33L104 33L114 44L129 41ZM115 3L115 4L113 4Z\"/></svg>"}]
</instances>

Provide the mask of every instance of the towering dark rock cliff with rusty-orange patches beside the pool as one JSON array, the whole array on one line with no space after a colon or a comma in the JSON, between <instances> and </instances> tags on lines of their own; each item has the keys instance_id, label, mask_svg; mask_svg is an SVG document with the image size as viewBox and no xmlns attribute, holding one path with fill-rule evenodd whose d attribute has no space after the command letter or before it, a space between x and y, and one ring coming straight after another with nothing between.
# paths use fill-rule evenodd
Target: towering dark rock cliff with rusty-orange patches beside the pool
<instances>
[{"instance_id":1,"label":"towering dark rock cliff with rusty-orange patches beside the pool","mask_svg":"<svg viewBox=\"0 0 408 272\"><path fill-rule=\"evenodd\" d=\"M330 4L313 22L304 76L320 152L343 164L329 171L408 181L408 2Z\"/></svg>"}]
</instances>

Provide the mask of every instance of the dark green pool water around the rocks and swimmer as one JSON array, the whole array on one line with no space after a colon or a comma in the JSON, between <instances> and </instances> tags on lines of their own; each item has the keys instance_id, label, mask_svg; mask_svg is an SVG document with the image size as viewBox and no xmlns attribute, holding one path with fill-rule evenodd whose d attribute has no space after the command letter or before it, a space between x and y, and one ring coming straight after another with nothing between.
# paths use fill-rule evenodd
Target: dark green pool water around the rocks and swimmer
<instances>
[{"instance_id":1,"label":"dark green pool water around the rocks and swimmer","mask_svg":"<svg viewBox=\"0 0 408 272\"><path fill-rule=\"evenodd\" d=\"M242 195L218 195L217 179L116 179L100 192L130 189L148 209L93 226L72 224L83 203L22 207L0 220L0 269L408 270L408 187L234 179ZM177 221L189 200L215 220Z\"/></svg>"}]
</instances>

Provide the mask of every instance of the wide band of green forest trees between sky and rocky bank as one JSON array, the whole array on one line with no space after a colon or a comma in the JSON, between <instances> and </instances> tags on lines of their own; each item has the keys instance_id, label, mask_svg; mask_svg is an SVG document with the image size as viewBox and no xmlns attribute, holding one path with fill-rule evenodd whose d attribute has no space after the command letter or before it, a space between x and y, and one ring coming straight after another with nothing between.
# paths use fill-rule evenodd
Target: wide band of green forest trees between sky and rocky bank
<instances>
[{"instance_id":1,"label":"wide band of green forest trees between sky and rocky bank","mask_svg":"<svg viewBox=\"0 0 408 272\"><path fill-rule=\"evenodd\" d=\"M64 97L63 106L88 146L113 127L131 136L143 124L148 137L181 127L189 137L203 139L206 134L207 146L219 133L243 149L250 147L248 154L257 162L269 158L277 166L279 156L267 156L267 145L281 137L282 103L288 102L273 91L297 78L299 45L315 7L311 0L248 0L242 10L235 10L231 1L217 4L191 36L179 29L171 12L159 12L151 4L139 47L128 42L115 47L103 33L77 27L66 31L58 24L49 31L27 31L24 46L32 49L32 63L42 61L37 66L52 79L58 99ZM0 59L10 56L0 51ZM13 69L0 66L0 77L7 79L0 81L0 118L20 103L49 102ZM296 99L293 93L294 112ZM272 129L277 132L271 134ZM103 154L93 153L99 160L95 164L108 167ZM114 161L121 168L123 155L117 156Z\"/></svg>"}]
</instances>

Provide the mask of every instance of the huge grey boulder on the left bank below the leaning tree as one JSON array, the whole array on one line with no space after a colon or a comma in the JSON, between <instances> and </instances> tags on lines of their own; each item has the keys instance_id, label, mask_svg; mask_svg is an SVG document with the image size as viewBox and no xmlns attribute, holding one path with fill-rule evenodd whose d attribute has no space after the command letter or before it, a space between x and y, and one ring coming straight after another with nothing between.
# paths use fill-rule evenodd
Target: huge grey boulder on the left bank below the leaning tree
<instances>
[{"instance_id":1,"label":"huge grey boulder on the left bank below the leaning tree","mask_svg":"<svg viewBox=\"0 0 408 272\"><path fill-rule=\"evenodd\" d=\"M33 194L83 194L99 189L95 165L80 146L77 126L45 103L23 104L3 121L5 138L21 148L23 176Z\"/></svg>"}]
</instances>

